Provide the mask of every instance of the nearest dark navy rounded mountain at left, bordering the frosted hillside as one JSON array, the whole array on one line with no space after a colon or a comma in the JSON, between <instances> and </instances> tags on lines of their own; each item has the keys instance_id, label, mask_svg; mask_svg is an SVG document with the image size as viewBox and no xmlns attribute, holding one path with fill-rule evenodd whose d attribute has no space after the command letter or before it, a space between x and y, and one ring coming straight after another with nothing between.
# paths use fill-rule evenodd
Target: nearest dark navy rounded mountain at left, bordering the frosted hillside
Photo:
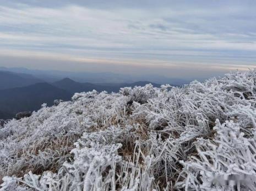
<instances>
[{"instance_id":1,"label":"nearest dark navy rounded mountain at left, bordering the frosted hillside","mask_svg":"<svg viewBox=\"0 0 256 191\"><path fill-rule=\"evenodd\" d=\"M70 94L48 83L0 90L0 119L10 119L19 111L34 111L42 103L53 104L54 99L69 100Z\"/></svg>"}]
</instances>

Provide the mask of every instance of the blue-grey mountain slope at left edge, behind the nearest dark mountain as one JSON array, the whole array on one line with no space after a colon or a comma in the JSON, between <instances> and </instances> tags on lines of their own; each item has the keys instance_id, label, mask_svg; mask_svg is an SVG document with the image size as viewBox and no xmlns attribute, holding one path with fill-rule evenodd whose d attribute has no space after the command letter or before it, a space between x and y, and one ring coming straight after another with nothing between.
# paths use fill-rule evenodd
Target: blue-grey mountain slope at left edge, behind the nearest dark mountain
<instances>
[{"instance_id":1,"label":"blue-grey mountain slope at left edge, behind the nearest dark mountain","mask_svg":"<svg viewBox=\"0 0 256 191\"><path fill-rule=\"evenodd\" d=\"M0 71L0 89L29 86L40 82L42 80L29 74Z\"/></svg>"}]
</instances>

